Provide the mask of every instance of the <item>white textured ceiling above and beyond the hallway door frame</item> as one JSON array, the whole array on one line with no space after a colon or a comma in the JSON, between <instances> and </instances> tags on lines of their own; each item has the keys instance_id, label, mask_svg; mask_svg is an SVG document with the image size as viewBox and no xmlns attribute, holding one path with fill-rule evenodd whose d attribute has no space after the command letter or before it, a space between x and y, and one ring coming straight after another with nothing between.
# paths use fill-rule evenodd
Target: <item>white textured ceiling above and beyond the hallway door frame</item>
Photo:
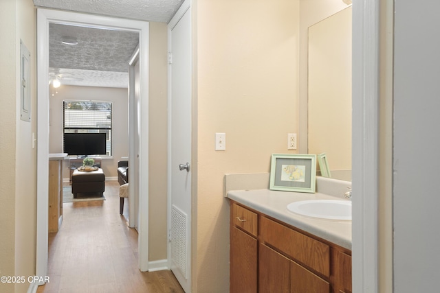
<instances>
[{"instance_id":1,"label":"white textured ceiling above and beyond the hallway door frame","mask_svg":"<svg viewBox=\"0 0 440 293\"><path fill-rule=\"evenodd\" d=\"M37 8L168 23L184 0L34 0ZM50 24L50 77L61 84L127 87L128 64L138 34ZM77 45L61 43L66 37Z\"/></svg>"}]
</instances>

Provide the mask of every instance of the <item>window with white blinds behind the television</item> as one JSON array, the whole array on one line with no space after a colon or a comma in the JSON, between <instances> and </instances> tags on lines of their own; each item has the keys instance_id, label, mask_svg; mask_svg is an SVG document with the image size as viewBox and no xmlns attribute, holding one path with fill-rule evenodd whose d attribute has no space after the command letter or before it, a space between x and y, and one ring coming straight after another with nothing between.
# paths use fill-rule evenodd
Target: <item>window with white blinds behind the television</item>
<instances>
[{"instance_id":1,"label":"window with white blinds behind the television","mask_svg":"<svg viewBox=\"0 0 440 293\"><path fill-rule=\"evenodd\" d=\"M105 133L106 152L111 156L112 103L64 101L64 133Z\"/></svg>"}]
</instances>

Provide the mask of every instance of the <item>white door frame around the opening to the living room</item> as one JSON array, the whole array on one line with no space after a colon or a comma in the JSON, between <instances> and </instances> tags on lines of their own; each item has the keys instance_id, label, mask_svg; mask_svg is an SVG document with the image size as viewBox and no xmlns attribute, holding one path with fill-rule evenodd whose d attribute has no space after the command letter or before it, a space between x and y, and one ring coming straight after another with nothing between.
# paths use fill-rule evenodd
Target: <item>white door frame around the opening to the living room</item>
<instances>
[{"instance_id":1,"label":"white door frame around the opening to the living room","mask_svg":"<svg viewBox=\"0 0 440 293\"><path fill-rule=\"evenodd\" d=\"M49 24L70 23L88 27L111 27L115 30L139 32L142 128L140 162L140 270L148 270L148 32L149 23L107 16L80 14L60 10L37 10L37 204L36 204L36 276L47 276L48 193L49 193ZM41 278L43 279L43 278ZM42 285L42 283L39 283Z\"/></svg>"}]
</instances>

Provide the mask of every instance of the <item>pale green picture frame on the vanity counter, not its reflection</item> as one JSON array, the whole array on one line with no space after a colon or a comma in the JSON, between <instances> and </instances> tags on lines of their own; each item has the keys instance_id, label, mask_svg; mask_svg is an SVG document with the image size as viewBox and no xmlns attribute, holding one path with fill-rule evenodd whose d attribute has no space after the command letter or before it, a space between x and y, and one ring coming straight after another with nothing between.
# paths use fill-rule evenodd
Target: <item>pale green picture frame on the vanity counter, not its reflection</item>
<instances>
[{"instance_id":1,"label":"pale green picture frame on the vanity counter, not its reflection","mask_svg":"<svg viewBox=\"0 0 440 293\"><path fill-rule=\"evenodd\" d=\"M316 154L272 154L271 190L315 193Z\"/></svg>"}]
</instances>

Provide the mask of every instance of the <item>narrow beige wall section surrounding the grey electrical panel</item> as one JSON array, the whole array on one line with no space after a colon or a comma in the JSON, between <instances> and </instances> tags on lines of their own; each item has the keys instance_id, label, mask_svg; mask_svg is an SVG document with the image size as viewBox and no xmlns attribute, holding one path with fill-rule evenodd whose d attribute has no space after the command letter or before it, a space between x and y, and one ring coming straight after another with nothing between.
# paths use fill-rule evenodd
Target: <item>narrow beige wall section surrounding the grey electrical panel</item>
<instances>
[{"instance_id":1,"label":"narrow beige wall section surrounding the grey electrical panel","mask_svg":"<svg viewBox=\"0 0 440 293\"><path fill-rule=\"evenodd\" d=\"M15 189L15 275L32 276L36 265L36 147L32 148L32 133L36 134L36 10L30 0L17 5L19 38L31 54L31 122L19 119L20 103L17 103L17 172ZM19 41L17 40L17 43ZM19 82L17 82L18 84ZM19 99L17 98L17 101ZM15 292L25 292L29 283L17 283Z\"/></svg>"}]
</instances>

